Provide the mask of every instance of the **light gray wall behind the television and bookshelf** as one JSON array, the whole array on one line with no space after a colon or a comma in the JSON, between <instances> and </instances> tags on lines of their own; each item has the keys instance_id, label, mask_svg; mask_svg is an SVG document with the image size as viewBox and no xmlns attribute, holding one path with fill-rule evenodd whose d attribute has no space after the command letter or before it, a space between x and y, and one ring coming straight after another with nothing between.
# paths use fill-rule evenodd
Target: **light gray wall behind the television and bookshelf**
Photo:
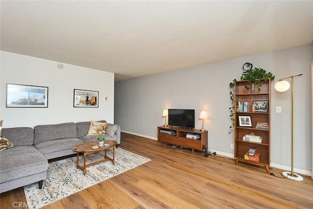
<instances>
[{"instance_id":1,"label":"light gray wall behind the television and bookshelf","mask_svg":"<svg viewBox=\"0 0 313 209\"><path fill-rule=\"evenodd\" d=\"M271 71L277 81L290 75L303 73L294 79L294 168L296 172L309 172L311 168L311 45L280 51L256 54L165 72L115 83L115 122L123 131L157 137L157 126L164 124L163 109L195 109L196 117L206 110L208 120L208 147L233 156L230 149L233 134L228 134L231 124L228 108L229 83L240 80L242 66L249 62L253 68ZM282 106L282 113L275 113ZM277 93L271 88L271 163L272 166L291 166L291 92ZM201 128L196 119L196 129Z\"/></svg>"}]
</instances>

